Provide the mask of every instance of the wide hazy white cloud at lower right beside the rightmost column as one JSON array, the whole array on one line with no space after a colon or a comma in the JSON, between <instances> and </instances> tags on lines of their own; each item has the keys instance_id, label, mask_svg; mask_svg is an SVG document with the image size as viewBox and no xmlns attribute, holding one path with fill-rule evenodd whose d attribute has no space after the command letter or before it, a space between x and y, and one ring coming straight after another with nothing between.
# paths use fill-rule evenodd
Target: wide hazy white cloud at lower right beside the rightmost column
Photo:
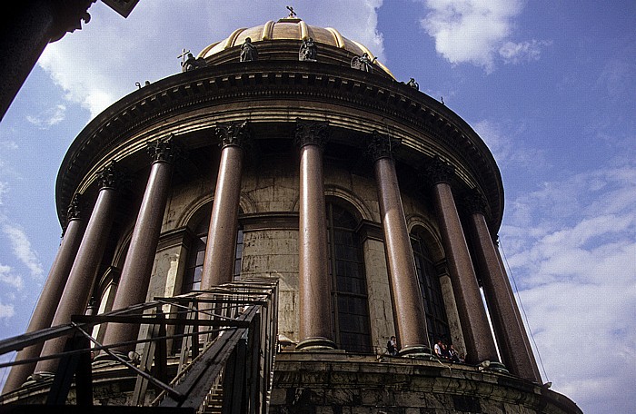
<instances>
[{"instance_id":1,"label":"wide hazy white cloud at lower right beside the rightmost column","mask_svg":"<svg viewBox=\"0 0 636 414\"><path fill-rule=\"evenodd\" d=\"M509 210L502 248L553 389L630 411L636 397L615 390L636 381L636 167L546 182Z\"/></svg>"}]
</instances>

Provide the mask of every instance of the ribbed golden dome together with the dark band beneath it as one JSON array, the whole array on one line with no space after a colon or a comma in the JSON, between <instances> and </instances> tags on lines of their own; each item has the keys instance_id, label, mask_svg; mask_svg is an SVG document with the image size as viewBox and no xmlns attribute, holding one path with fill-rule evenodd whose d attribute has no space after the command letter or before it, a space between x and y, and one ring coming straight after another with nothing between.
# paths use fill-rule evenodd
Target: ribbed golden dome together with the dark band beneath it
<instances>
[{"instance_id":1,"label":"ribbed golden dome together with the dark band beneath it","mask_svg":"<svg viewBox=\"0 0 636 414\"><path fill-rule=\"evenodd\" d=\"M379 62L364 44L347 39L332 27L307 25L302 19L293 16L278 21L270 20L264 25L236 29L224 40L205 47L197 57L203 57L208 64L226 63L229 61L226 57L228 51L235 52L247 38L259 48L259 59L263 60L272 60L274 57L293 58L298 53L298 45L303 40L312 38L319 48L318 53L326 56L325 62L350 64L353 57L368 54L373 64L381 69L378 73L387 74L394 79L389 68ZM233 55L238 56L236 53Z\"/></svg>"}]
</instances>

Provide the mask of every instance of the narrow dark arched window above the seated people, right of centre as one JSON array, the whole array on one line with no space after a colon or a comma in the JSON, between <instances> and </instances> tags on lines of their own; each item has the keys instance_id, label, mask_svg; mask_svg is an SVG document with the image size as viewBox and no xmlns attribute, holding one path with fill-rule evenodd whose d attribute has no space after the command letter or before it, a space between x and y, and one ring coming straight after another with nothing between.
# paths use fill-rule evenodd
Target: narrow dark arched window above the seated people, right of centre
<instances>
[{"instance_id":1,"label":"narrow dark arched window above the seated people, right of centre","mask_svg":"<svg viewBox=\"0 0 636 414\"><path fill-rule=\"evenodd\" d=\"M411 234L411 244L413 249L413 259L417 271L417 280L420 284L424 311L426 312L426 325L431 344L436 340L451 340L448 320L442 297L442 286L440 278L432 264L422 231L415 231Z\"/></svg>"}]
</instances>

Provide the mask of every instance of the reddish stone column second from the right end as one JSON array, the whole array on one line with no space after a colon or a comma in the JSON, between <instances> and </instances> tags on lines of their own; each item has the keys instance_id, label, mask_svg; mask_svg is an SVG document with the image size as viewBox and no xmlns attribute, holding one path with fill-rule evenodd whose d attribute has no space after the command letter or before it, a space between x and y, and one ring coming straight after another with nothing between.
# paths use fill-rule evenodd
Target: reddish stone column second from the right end
<instances>
[{"instance_id":1,"label":"reddish stone column second from the right end","mask_svg":"<svg viewBox=\"0 0 636 414\"><path fill-rule=\"evenodd\" d=\"M477 276L472 267L468 244L462 231L451 190L454 169L438 157L426 168L426 180L432 184L435 211L442 232L442 242L451 273L452 291L457 302L457 311L462 321L462 332L466 343L466 360L479 363L484 360L496 362L497 349L492 338Z\"/></svg>"}]
</instances>

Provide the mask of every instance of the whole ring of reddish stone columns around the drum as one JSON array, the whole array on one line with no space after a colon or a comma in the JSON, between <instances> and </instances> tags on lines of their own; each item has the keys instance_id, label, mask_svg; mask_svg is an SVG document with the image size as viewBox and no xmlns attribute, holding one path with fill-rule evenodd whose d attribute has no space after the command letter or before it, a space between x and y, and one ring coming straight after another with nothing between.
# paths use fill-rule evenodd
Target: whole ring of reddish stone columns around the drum
<instances>
[{"instance_id":1,"label":"whole ring of reddish stone columns around the drum","mask_svg":"<svg viewBox=\"0 0 636 414\"><path fill-rule=\"evenodd\" d=\"M331 328L331 279L328 271L326 217L323 184L323 146L328 141L326 122L296 120L295 142L300 151L299 198L299 283L300 342L297 349L333 349ZM244 146L250 139L247 123L229 123L216 129L222 152L214 190L214 205L204 258L201 289L232 281L234 241L238 228ZM402 355L430 356L426 317L413 262L412 246L392 149L388 136L374 133L369 140L373 170L382 216L384 245L395 310L395 328ZM113 309L145 301L159 240L165 205L171 189L171 175L179 153L174 137L149 144L154 160L135 222ZM454 300L461 320L467 360L498 363L497 349L483 306L476 272L452 193L452 167L439 158L429 163L425 175L431 185L432 201L449 266ZM84 313L94 284L107 235L113 222L117 187L123 175L114 163L99 174L100 191L88 222L69 215L69 222L57 258L29 330L68 323L74 314ZM75 199L74 199L75 200ZM75 202L75 201L74 201ZM492 325L506 367L522 378L541 381L519 318L510 284L502 269L488 231L484 212L472 209L470 223L475 234L476 254L482 266L485 296L491 308ZM85 228L85 232L84 232ZM59 302L59 305L57 305ZM55 311L55 317L47 317ZM512 320L512 321L511 321ZM137 330L123 324L108 326L105 345L134 340ZM64 349L65 339L48 340L41 355ZM125 351L126 347L117 350ZM36 347L22 350L17 359L35 358ZM18 365L11 371L4 391L18 388L33 372L33 365ZM56 360L41 360L35 372L56 370Z\"/></svg>"}]
</instances>

